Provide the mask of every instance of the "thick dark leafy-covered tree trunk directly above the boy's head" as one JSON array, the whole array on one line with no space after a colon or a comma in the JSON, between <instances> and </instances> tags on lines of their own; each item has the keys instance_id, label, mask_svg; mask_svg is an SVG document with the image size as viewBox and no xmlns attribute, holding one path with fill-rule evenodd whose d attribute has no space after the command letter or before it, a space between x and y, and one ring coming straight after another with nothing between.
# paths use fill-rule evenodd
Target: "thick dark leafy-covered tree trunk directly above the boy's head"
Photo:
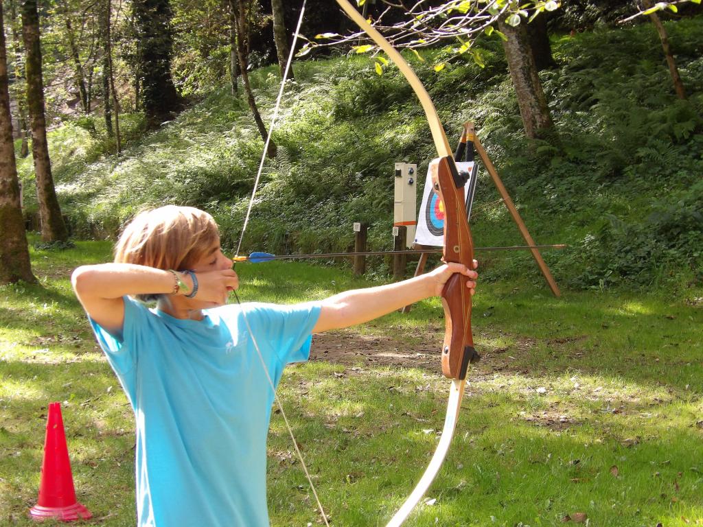
<instances>
[{"instance_id":1,"label":"thick dark leafy-covered tree trunk directly above the boy's head","mask_svg":"<svg viewBox=\"0 0 703 527\"><path fill-rule=\"evenodd\" d=\"M173 12L169 0L135 0L132 5L139 42L141 106L148 126L155 128L172 119L182 107L171 76Z\"/></svg>"}]
</instances>

